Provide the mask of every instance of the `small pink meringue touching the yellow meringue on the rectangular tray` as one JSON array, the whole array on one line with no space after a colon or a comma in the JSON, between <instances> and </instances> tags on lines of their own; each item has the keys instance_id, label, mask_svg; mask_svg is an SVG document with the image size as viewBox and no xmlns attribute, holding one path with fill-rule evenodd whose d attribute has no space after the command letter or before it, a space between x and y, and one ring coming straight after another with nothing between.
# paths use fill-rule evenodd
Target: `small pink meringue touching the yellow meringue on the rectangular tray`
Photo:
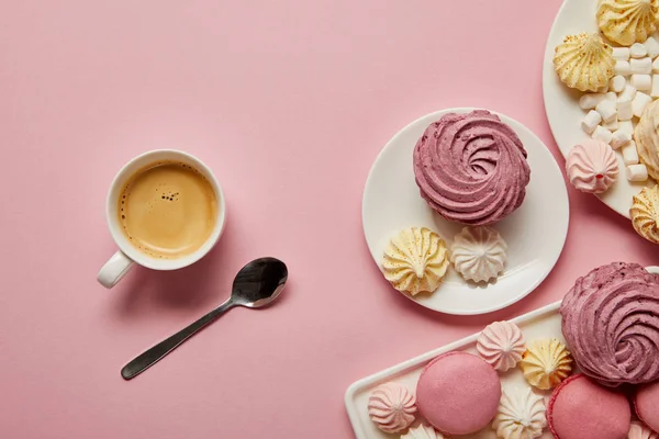
<instances>
[{"instance_id":1,"label":"small pink meringue touching the yellow meringue on the rectangular tray","mask_svg":"<svg viewBox=\"0 0 659 439\"><path fill-rule=\"evenodd\" d=\"M494 322L478 337L476 349L492 368L505 372L522 360L524 335L514 323Z\"/></svg>"}]
</instances>

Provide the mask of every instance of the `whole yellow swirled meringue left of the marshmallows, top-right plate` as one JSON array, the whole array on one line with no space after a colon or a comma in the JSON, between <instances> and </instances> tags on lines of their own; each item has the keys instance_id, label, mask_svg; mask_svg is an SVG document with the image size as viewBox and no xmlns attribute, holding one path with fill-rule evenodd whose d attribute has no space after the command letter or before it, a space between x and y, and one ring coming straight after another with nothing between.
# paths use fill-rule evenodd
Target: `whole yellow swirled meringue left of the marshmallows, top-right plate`
<instances>
[{"instance_id":1,"label":"whole yellow swirled meringue left of the marshmallows, top-right plate","mask_svg":"<svg viewBox=\"0 0 659 439\"><path fill-rule=\"evenodd\" d=\"M597 91L613 78L613 48L599 34L568 35L556 47L554 68L566 86Z\"/></svg>"}]
</instances>

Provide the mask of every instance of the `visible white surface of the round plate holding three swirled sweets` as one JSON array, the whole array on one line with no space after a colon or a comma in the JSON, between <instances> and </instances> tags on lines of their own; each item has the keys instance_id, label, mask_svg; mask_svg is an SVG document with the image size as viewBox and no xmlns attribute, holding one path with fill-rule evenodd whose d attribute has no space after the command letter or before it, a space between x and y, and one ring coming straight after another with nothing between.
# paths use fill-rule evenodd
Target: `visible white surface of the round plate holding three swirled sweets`
<instances>
[{"instance_id":1,"label":"visible white surface of the round plate holding three swirled sweets","mask_svg":"<svg viewBox=\"0 0 659 439\"><path fill-rule=\"evenodd\" d=\"M428 227L450 246L462 225L436 214L421 198L412 153L425 128L442 115L473 109L443 110L412 122L380 153L366 182L362 201L364 234L380 267L391 237L406 227ZM499 113L496 113L499 114ZM530 182L522 206L494 227L509 244L504 273L495 283L466 282L453 266L433 294L409 296L414 302L448 314L483 314L503 308L530 293L549 274L568 234L569 203L556 160L540 139L521 123L499 114L528 153Z\"/></svg>"}]
</instances>

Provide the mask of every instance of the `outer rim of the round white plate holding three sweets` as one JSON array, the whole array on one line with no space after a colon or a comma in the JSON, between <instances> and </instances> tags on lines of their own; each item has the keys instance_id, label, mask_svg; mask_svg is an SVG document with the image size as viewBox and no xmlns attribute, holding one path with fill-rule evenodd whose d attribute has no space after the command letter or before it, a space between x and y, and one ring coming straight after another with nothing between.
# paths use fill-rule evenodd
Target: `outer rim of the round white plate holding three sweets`
<instances>
[{"instance_id":1,"label":"outer rim of the round white plate holding three sweets","mask_svg":"<svg viewBox=\"0 0 659 439\"><path fill-rule=\"evenodd\" d=\"M400 136L402 136L407 130L410 130L411 126L417 124L423 119L431 117L431 116L439 119L442 115L447 114L447 113L451 113L451 112L455 112L455 113L468 113L468 112L474 111L474 110L487 110L487 111L489 111L489 112L491 112L493 114L496 114L499 117L502 119L502 121L504 123L506 123L505 120L510 120L510 121L518 124L520 126L522 126L524 130L526 130L528 132L528 134L530 136L533 136L534 139L539 145L541 145L541 146L545 147L547 154L549 154L549 156L551 157L551 164L552 164L552 166L556 167L556 170L562 177L562 171L561 171L560 166L558 165L558 161L556 160L556 157L554 157L554 155L551 154L551 150L547 147L547 145L545 145L545 143L538 137L538 135L535 134L535 132L533 132L530 128L528 128L523 123L518 122L517 120L515 120L515 119L513 119L513 117L511 117L511 116L509 116L509 115L506 115L504 113L501 113L501 112L495 111L495 110L484 109L484 108L456 106L456 108L447 108L447 109L443 109L443 110L433 111L433 112L426 113L426 114L424 114L424 115L422 115L420 117L416 117L414 121L407 123L405 126L403 126L401 130L399 130L384 144L384 146L382 147L382 149L380 149L380 151L378 153L376 159L373 160L373 162L372 162L372 165L371 165L371 167L369 169L368 177L367 177L366 183L364 185L364 192L362 192L362 195L361 195L361 229L362 229L362 234L364 234L364 239L366 241L366 246L368 248L368 252L369 252L371 259L373 260L373 262L376 263L376 267L378 267L378 270L380 272L381 272L381 267L378 263L378 261L376 260L376 258L375 258L375 256L373 256L373 254L371 251L371 248L370 248L370 246L368 244L368 239L366 237L367 233L366 233L366 221L365 221L365 215L366 215L366 207L365 207L366 203L365 203L365 200L366 200L366 194L368 192L368 188L373 184L372 183L373 169L377 167L378 162L380 161L380 159L382 158L382 156L384 155L384 153L389 148L392 147L392 145L396 142L396 139ZM533 169L532 169L532 171L533 171ZM532 292L534 292L540 285L540 283L543 283L545 281L545 279L547 279L547 277L551 273L551 271L554 271L554 268L556 267L556 263L560 259L560 256L562 255L562 251L565 249L565 245L566 245L566 241L567 241L568 233L569 233L569 229L570 229L570 198L569 198L569 194L568 194L568 188L567 188L567 185L565 183L565 179L561 179L561 181L562 181L562 184L561 184L562 193L563 193L565 200L566 200L566 219L565 219L566 224L565 224L565 230L561 234L562 236L561 236L560 249L559 249L559 251L557 251L556 256L552 258L551 262L548 264L549 266L549 270L547 270L546 273L544 273L541 277L539 277L533 284L529 284L529 286L527 286L526 289L524 289L525 291L523 293L518 294L517 296L515 296L513 299L504 301L504 302L500 303L499 305L490 306L488 308L482 308L482 309L479 309L479 311L470 311L470 309L445 311L445 309L437 309L435 307L426 306L425 304L423 304L423 303L421 303L418 301L415 301L413 297L411 297L407 294L404 294L404 293L402 293L402 292L400 292L400 291L398 291L398 290L395 290L393 288L392 288L392 290L395 290L396 293L403 295L404 297L406 297L407 300L414 302L418 306L422 306L422 307L424 307L426 309L434 311L436 313L444 313L444 314L448 314L448 315L483 315L483 314L493 313L495 311L500 311L500 309L506 308L506 307L509 307L509 306L511 306L511 305L513 305L513 304L522 301L528 294L530 294Z\"/></svg>"}]
</instances>

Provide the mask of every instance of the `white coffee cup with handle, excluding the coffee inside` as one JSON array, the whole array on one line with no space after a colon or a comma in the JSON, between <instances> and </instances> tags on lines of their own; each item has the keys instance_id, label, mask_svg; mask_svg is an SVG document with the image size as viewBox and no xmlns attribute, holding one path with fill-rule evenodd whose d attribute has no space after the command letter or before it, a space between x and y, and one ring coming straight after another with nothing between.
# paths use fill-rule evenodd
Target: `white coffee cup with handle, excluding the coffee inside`
<instances>
[{"instance_id":1,"label":"white coffee cup with handle, excluding the coffee inside","mask_svg":"<svg viewBox=\"0 0 659 439\"><path fill-rule=\"evenodd\" d=\"M215 192L215 196L217 198L217 219L209 238L194 252L176 259L154 258L139 251L126 238L122 232L122 225L119 221L119 198L121 196L121 192L125 183L139 170L158 161L176 161L197 169L211 183ZM153 270L178 270L197 262L209 251L211 251L213 246L217 243L222 232L224 230L224 224L226 222L226 205L224 202L224 194L220 183L217 183L217 180L215 179L215 176L213 176L213 172L211 172L209 167L198 158L187 153L174 149L158 149L148 151L129 161L112 181L110 192L108 193L105 213L110 233L119 246L119 250L112 256L112 258L110 258L108 262L105 262L105 264L101 268L101 271L99 271L99 275L97 278L98 281L108 289L114 286L135 263Z\"/></svg>"}]
</instances>

